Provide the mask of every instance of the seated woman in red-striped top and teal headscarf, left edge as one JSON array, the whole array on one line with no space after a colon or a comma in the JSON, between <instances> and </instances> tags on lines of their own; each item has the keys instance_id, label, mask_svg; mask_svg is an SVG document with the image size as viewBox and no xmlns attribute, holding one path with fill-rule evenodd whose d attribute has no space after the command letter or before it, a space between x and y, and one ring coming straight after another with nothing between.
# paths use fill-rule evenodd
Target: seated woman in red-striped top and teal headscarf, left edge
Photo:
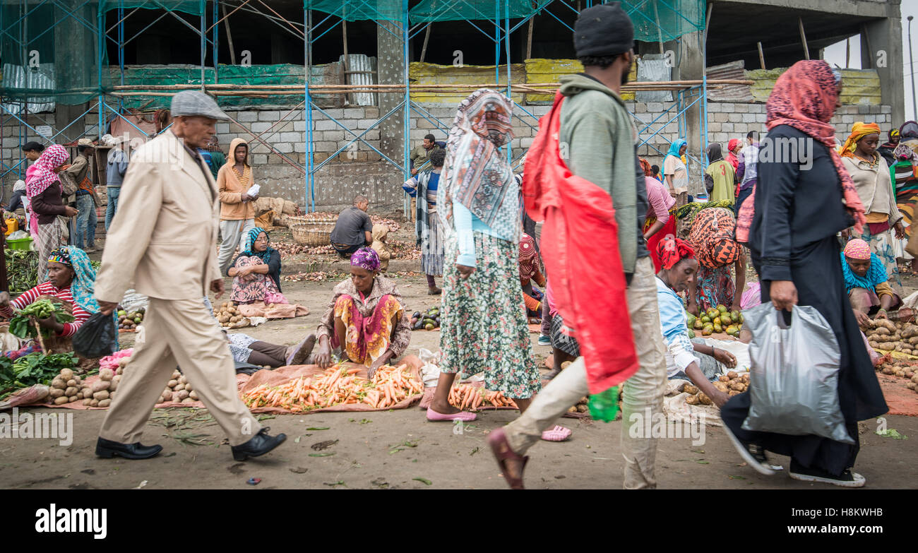
<instances>
[{"instance_id":1,"label":"seated woman in red-striped top and teal headscarf, left edge","mask_svg":"<svg viewBox=\"0 0 918 553\"><path fill-rule=\"evenodd\" d=\"M57 322L54 315L47 319L39 319L37 322L39 326L50 330L54 335L69 338L83 326L91 313L99 310L99 304L93 297L94 294L95 270L89 263L89 256L75 246L57 248L48 258L48 280L46 282L27 290L12 301L7 292L0 292L0 315L12 318L16 310L25 309L36 300L48 296L61 299L73 305L73 322ZM19 352L19 355L25 355L25 353Z\"/></svg>"}]
</instances>

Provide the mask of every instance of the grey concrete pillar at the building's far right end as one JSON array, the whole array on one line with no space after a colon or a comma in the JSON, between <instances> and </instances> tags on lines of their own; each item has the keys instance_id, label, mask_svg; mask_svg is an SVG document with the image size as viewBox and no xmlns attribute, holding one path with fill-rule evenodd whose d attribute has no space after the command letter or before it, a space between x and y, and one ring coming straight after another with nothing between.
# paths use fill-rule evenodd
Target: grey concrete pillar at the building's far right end
<instances>
[{"instance_id":1,"label":"grey concrete pillar at the building's far right end","mask_svg":"<svg viewBox=\"0 0 918 553\"><path fill-rule=\"evenodd\" d=\"M861 33L861 67L877 70L882 102L892 107L892 127L899 127L905 122L905 87L902 79L905 78L903 65L908 60L902 58L899 3L890 3L889 8L889 17L871 21L864 26L866 33Z\"/></svg>"}]
</instances>

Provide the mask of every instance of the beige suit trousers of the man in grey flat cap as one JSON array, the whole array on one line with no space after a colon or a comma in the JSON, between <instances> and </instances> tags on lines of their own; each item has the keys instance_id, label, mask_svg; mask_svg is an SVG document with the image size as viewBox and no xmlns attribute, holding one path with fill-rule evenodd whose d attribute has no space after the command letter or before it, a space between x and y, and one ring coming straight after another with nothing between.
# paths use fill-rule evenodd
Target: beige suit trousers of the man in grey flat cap
<instances>
[{"instance_id":1,"label":"beige suit trousers of the man in grey flat cap","mask_svg":"<svg viewBox=\"0 0 918 553\"><path fill-rule=\"evenodd\" d=\"M126 367L99 435L121 444L140 441L153 406L176 366L229 437L230 446L261 430L236 390L236 370L226 338L201 299L150 299L144 342Z\"/></svg>"}]
</instances>

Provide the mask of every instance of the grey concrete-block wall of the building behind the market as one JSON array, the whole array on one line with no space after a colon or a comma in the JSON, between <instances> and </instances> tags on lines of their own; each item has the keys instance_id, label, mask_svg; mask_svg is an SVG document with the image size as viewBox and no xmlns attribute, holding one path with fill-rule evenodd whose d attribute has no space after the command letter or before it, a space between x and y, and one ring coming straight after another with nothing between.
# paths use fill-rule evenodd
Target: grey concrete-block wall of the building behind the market
<instances>
[{"instance_id":1,"label":"grey concrete-block wall of the building behind the market","mask_svg":"<svg viewBox=\"0 0 918 553\"><path fill-rule=\"evenodd\" d=\"M663 156L669 148L669 142L678 138L677 122L673 121L664 125L666 117L661 121L652 123L669 104L659 102L627 103L634 114L634 122L638 125L643 138L649 138L646 145L641 147L639 154L647 158L652 164L662 165ZM538 128L538 119L548 112L548 106L527 106L518 108L513 118L514 139L511 142L514 157L519 156L526 148L532 145L532 139ZM304 205L306 200L306 180L303 172L296 166L284 161L283 154L293 164L305 166L306 144L304 135L307 122L305 112L298 110L288 113L287 110L250 110L229 112L234 119L240 121L248 130L242 129L232 122L220 122L217 126L218 138L224 150L229 148L229 141L240 136L250 141L252 155L250 162L255 173L255 180L262 185L263 196L285 197ZM347 107L327 109L323 112L313 111L313 141L315 144L314 164L327 162L330 155L343 148L347 141L353 139L354 134L362 134L364 139L376 149L380 141L386 141L380 136L378 127L374 127L379 118L377 107ZM411 145L420 143L425 134L432 132L437 140L446 139L446 130L452 124L455 107L442 105L422 105L418 110L412 110L409 139ZM286 116L286 117L285 117ZM732 138L744 139L750 130L765 132L765 105L743 104L727 102L708 103L708 139L725 144ZM86 133L95 137L98 134L96 126L97 116L93 113L87 115ZM891 125L891 108L889 106L844 106L835 114L835 125L839 141L844 141L852 123L855 121L877 122L885 132ZM438 123L434 123L437 120ZM55 126L54 114L40 114L40 119L30 117L30 125ZM343 126L343 127L342 127ZM348 130L352 130L349 132ZM55 129L57 131L57 129ZM34 133L26 137L19 136L19 127L15 120L7 119L3 128L2 142L0 142L0 155L6 165L15 164L20 159L19 147L25 141L35 140ZM656 134L654 134L656 133ZM71 134L68 131L68 134ZM255 141L254 135L260 135L266 144ZM392 139L388 139L392 140ZM689 137L689 152L698 156L700 147L697 137ZM270 147L269 147L270 146ZM398 164L401 160L394 160ZM24 169L23 169L24 172ZM692 177L693 188L695 181L700 180L700 164L690 162L689 173ZM698 176L699 178L695 178ZM5 197L12 191L16 175L6 175L3 179ZM370 198L374 211L397 214L401 213L404 194L400 183L401 175L395 168L386 163L377 152L374 152L364 143L357 143L344 150L331 162L323 165L315 175L316 180L316 207L317 209L337 210L349 206L353 196L363 194Z\"/></svg>"}]
</instances>

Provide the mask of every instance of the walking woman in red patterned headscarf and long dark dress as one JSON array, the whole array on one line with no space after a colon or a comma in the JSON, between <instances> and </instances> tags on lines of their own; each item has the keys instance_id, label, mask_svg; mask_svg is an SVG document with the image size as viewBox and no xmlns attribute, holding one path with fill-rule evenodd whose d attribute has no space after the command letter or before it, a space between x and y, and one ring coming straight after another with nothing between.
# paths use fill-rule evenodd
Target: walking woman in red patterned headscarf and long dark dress
<instances>
[{"instance_id":1,"label":"walking woman in red patterned headscarf and long dark dress","mask_svg":"<svg viewBox=\"0 0 918 553\"><path fill-rule=\"evenodd\" d=\"M789 475L795 480L858 487L866 480L851 470L858 451L857 421L889 408L838 262L841 248L835 234L852 225L861 230L866 222L855 185L834 149L830 121L841 105L841 80L841 73L822 60L794 63L778 77L766 105L767 141L804 145L807 164L798 156L760 157L760 186L751 198L754 202L746 202L740 215L752 215L746 229L762 282L762 301L770 300L777 310L811 305L834 331L841 353L838 402L851 442L744 430L751 405L748 392L727 401L721 418L733 446L756 471L775 473L765 457L767 450L790 457ZM754 213L747 209L750 203Z\"/></svg>"}]
</instances>

